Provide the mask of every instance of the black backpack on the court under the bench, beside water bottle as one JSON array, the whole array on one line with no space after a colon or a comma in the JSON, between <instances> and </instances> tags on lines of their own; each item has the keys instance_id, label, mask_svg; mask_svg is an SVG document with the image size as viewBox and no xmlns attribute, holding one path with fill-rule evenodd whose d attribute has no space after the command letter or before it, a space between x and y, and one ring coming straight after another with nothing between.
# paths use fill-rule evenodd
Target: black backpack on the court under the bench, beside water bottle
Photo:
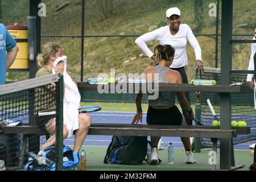
<instances>
[{"instance_id":1,"label":"black backpack on the court under the bench, beside water bottle","mask_svg":"<svg viewBox=\"0 0 256 182\"><path fill-rule=\"evenodd\" d=\"M147 155L147 137L113 136L109 144L105 164L142 164Z\"/></svg>"}]
</instances>

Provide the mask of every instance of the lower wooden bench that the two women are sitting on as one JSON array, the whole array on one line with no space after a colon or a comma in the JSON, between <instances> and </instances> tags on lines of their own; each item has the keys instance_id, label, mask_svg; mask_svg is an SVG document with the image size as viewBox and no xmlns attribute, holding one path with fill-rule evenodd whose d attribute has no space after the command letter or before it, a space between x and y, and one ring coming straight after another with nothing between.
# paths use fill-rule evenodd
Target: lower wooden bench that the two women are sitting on
<instances>
[{"instance_id":1,"label":"lower wooden bench that the two women are sitting on","mask_svg":"<svg viewBox=\"0 0 256 182\"><path fill-rule=\"evenodd\" d=\"M6 126L5 134L23 134L22 151L19 167L22 167L27 138L31 135L45 135L45 131L37 126ZM92 124L88 135L122 135L122 136L163 136L163 137L204 137L212 138L213 150L217 152L217 138L234 138L237 134L249 134L250 127L232 127L221 130L213 126L170 126L170 125L123 125L123 124ZM239 166L237 168L240 168ZM216 169L216 165L213 165Z\"/></svg>"}]
</instances>

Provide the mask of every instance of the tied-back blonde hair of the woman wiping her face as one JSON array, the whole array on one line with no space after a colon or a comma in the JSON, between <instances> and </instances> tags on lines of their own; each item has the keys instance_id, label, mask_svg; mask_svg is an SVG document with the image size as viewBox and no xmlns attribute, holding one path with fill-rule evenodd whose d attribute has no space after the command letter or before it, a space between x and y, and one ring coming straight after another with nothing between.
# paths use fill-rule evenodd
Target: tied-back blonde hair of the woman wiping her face
<instances>
[{"instance_id":1,"label":"tied-back blonde hair of the woman wiping her face","mask_svg":"<svg viewBox=\"0 0 256 182\"><path fill-rule=\"evenodd\" d=\"M50 56L55 55L59 48L60 46L57 43L46 43L43 47L43 53L36 57L39 67L42 68L44 65L46 65L49 61Z\"/></svg>"}]
</instances>

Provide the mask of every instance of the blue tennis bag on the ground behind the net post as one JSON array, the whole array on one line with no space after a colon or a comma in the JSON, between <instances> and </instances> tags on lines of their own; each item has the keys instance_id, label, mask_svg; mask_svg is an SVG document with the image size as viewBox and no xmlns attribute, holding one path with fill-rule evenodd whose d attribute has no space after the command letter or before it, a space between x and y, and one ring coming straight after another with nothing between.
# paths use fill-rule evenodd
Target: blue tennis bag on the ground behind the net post
<instances>
[{"instance_id":1,"label":"blue tennis bag on the ground behind the net post","mask_svg":"<svg viewBox=\"0 0 256 182\"><path fill-rule=\"evenodd\" d=\"M63 146L63 171L74 171L80 163L79 153ZM25 171L55 171L55 146L47 147L42 154L29 154Z\"/></svg>"}]
</instances>

